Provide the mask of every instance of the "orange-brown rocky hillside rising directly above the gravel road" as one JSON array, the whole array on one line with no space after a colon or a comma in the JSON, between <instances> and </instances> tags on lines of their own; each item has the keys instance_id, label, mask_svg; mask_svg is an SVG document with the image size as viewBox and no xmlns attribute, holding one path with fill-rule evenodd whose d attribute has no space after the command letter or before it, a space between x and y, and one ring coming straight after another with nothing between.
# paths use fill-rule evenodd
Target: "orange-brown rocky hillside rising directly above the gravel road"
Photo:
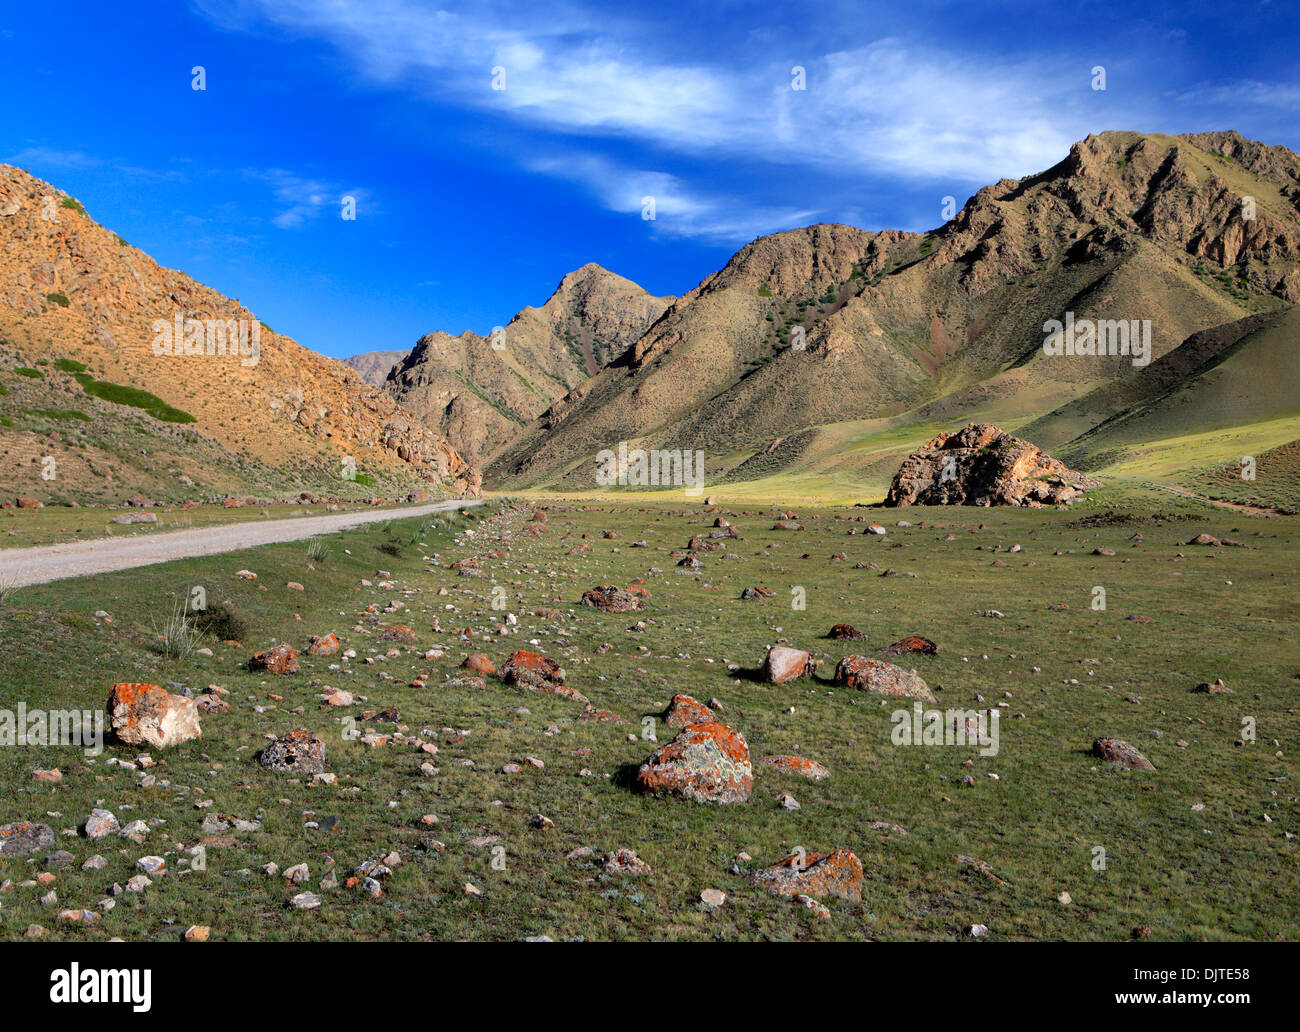
<instances>
[{"instance_id":1,"label":"orange-brown rocky hillside rising directly above the gravel road","mask_svg":"<svg viewBox=\"0 0 1300 1032\"><path fill-rule=\"evenodd\" d=\"M446 438L354 369L160 266L8 165L0 389L9 493L473 493L480 481ZM46 456L53 477L39 476Z\"/></svg>"}]
</instances>

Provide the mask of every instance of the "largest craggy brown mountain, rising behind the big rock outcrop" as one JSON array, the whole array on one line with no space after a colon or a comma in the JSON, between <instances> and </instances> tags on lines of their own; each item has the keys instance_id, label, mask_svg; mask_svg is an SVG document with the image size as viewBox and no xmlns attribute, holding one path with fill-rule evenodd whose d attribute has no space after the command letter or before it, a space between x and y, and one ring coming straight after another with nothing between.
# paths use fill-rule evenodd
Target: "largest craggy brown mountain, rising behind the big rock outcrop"
<instances>
[{"instance_id":1,"label":"largest craggy brown mountain, rising behind the big rock outcrop","mask_svg":"<svg viewBox=\"0 0 1300 1032\"><path fill-rule=\"evenodd\" d=\"M1017 429L1095 390L1136 400L1195 334L1296 302L1296 155L1236 133L1104 133L927 234L818 225L754 240L523 428L489 478L589 487L595 454L624 441L702 448L714 482L852 478L887 438L898 455L954 422ZM1149 324L1152 364L1046 354L1052 320ZM1063 437L1035 443L1092 425L1062 413Z\"/></svg>"}]
</instances>

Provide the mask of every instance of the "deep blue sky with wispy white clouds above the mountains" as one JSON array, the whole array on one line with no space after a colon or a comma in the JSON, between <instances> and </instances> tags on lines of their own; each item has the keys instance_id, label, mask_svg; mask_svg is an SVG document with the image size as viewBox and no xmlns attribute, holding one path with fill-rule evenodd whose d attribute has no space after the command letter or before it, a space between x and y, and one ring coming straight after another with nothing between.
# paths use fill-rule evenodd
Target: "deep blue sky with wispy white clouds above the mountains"
<instances>
[{"instance_id":1,"label":"deep blue sky with wispy white clouds above the mountains","mask_svg":"<svg viewBox=\"0 0 1300 1032\"><path fill-rule=\"evenodd\" d=\"M764 233L931 229L1092 131L1300 149L1295 4L1178 6L9 3L0 161L342 357L586 261L680 294Z\"/></svg>"}]
</instances>

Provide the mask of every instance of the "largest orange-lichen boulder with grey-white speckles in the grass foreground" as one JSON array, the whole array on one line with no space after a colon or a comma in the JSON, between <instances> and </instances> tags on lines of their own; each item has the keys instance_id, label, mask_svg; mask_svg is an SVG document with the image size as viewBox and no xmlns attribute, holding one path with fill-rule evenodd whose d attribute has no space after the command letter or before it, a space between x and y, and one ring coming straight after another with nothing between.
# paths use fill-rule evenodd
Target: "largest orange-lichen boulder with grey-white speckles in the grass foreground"
<instances>
[{"instance_id":1,"label":"largest orange-lichen boulder with grey-white speckles in the grass foreground","mask_svg":"<svg viewBox=\"0 0 1300 1032\"><path fill-rule=\"evenodd\" d=\"M651 795L702 803L742 803L754 786L749 743L716 720L688 724L637 771L636 786Z\"/></svg>"}]
</instances>

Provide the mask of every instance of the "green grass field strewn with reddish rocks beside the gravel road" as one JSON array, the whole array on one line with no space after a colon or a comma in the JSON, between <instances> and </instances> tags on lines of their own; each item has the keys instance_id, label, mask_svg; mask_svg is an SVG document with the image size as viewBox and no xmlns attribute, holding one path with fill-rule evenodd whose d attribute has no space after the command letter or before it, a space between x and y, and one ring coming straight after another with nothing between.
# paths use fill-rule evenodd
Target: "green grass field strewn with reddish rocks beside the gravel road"
<instances>
[{"instance_id":1,"label":"green grass field strewn with reddish rocks beside the gravel road","mask_svg":"<svg viewBox=\"0 0 1300 1032\"><path fill-rule=\"evenodd\" d=\"M332 535L324 560L298 542L9 594L0 610L4 707L101 707L112 684L153 681L195 691L222 685L231 710L204 716L202 740L153 751L147 771L108 766L142 751L120 745L98 758L68 747L0 750L0 823L47 823L56 847L74 857L51 885L23 884L47 870L46 851L0 859L0 879L14 883L0 892L0 936L40 924L52 938L165 940L198 924L220 940L900 940L967 938L972 924L985 924L992 940L1127 940L1139 928L1157 940L1300 938L1300 842L1288 837L1300 833L1295 519L1101 491L1071 512L798 508L806 529L775 532L779 510L719 494L741 534L725 554L738 559L703 552L698 576L679 572L672 551L706 533L715 513L699 500L621 497L542 502L538 537L521 533L528 507L498 500L437 522ZM863 534L858 517L888 534ZM1200 532L1245 547L1183 545ZM632 547L638 541L646 547ZM1022 550L1010 552L1013 545ZM1097 546L1115 555L1093 555ZM832 561L836 552L846 559ZM448 568L471 555L484 576ZM238 580L243 568L257 581ZM881 576L887 568L897 576ZM395 587L381 587L380 569ZM636 577L653 595L644 612L578 604L586 587ZM211 656L164 659L156 632L194 585L209 604L233 603L248 632L238 647L209 641ZM741 600L750 585L775 594ZM1097 586L1104 611L1091 607ZM495 587L504 610L493 608ZM792 607L796 589L806 608ZM384 612L394 600L404 608ZM983 616L988 610L1004 616ZM517 625L499 634L507 615ZM629 630L638 619L645 629ZM396 623L415 628L419 646L390 652L377 639ZM836 623L867 641L824 638ZM332 630L355 659L300 655L302 673L286 677L246 668L272 643L302 650L308 634ZM905 634L939 645L935 656L902 662L940 707L1002 707L996 756L896 746L892 702L831 682L844 655ZM818 677L759 682L753 671L779 641L824 659ZM425 658L434 646L446 650L442 659ZM555 658L568 685L628 723L578 720L577 703L493 677L485 688L446 684L465 655L499 664L514 649ZM428 686L411 685L424 675ZM1192 691L1216 677L1232 694ZM355 704L326 707L326 686L354 693ZM634 794L628 772L654 747L641 740L642 721L677 691L720 701L720 719L745 734L755 760L798 754L831 779L803 782L755 767L750 801L727 807ZM372 727L364 712L389 707L438 754L370 749L348 734ZM1247 717L1257 742L1242 742ZM311 786L256 763L269 737L298 727L325 741L337 785ZM660 742L672 734L663 723L650 727ZM1088 755L1104 734L1132 742L1156 771L1124 772ZM421 773L426 760L436 775ZM504 773L511 763L523 771ZM61 784L32 779L53 767ZM802 808L780 808L774 797L783 789ZM95 806L124 825L153 827L142 845L90 842L75 829ZM209 849L205 870L186 871L183 849L214 812L263 827ZM538 812L555 827L532 828ZM308 827L326 818L337 818L335 831ZM594 857L567 859L582 846ZM823 922L749 884L749 871L800 846L857 853L862 903L824 899L832 916ZM634 849L651 873L606 875L594 859L619 847ZM330 870L343 881L393 850L402 862L381 898L320 888ZM95 853L107 866L82 871ZM56 920L64 907L109 898L150 854L164 857L169 873L143 893L116 897L91 927ZM958 864L958 854L1000 880ZM309 877L290 885L263 873L268 863L306 863ZM482 894L465 894L467 883ZM707 888L727 902L703 907ZM42 905L51 889L57 903ZM287 906L303 890L322 894L320 910ZM1063 892L1072 902L1058 901Z\"/></svg>"}]
</instances>

